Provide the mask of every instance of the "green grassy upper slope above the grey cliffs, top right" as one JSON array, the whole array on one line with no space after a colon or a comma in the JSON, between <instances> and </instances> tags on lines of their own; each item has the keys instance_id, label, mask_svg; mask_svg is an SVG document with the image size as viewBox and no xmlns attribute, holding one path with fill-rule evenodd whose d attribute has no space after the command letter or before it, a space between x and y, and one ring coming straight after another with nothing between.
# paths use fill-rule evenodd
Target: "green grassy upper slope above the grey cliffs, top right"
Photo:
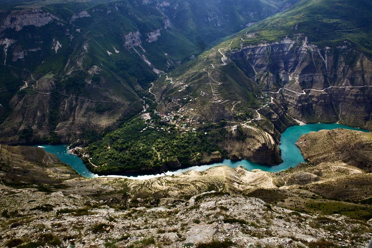
<instances>
[{"instance_id":1,"label":"green grassy upper slope above the grey cliffs, top right","mask_svg":"<svg viewBox=\"0 0 372 248\"><path fill-rule=\"evenodd\" d=\"M245 37L244 44L257 44L304 33L309 42L321 47L351 43L355 48L372 54L371 10L369 0L302 0L238 35L255 33L253 38Z\"/></svg>"}]
</instances>

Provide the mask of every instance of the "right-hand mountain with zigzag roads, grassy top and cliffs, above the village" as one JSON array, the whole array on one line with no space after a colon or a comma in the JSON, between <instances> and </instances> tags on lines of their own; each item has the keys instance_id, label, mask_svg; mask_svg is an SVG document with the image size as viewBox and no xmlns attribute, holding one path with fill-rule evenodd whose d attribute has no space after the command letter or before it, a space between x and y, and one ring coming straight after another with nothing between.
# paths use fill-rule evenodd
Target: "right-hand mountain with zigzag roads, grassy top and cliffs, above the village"
<instances>
[{"instance_id":1,"label":"right-hand mountain with zigzag roads, grassy top and cliffs, above the village","mask_svg":"<svg viewBox=\"0 0 372 248\"><path fill-rule=\"evenodd\" d=\"M158 78L152 91L170 109L192 99L185 106L201 120L244 123L262 114L280 132L290 117L369 129L371 47L362 40L371 35L372 6L362 1L350 18L359 3L333 3L301 1ZM266 105L270 97L275 104Z\"/></svg>"}]
</instances>

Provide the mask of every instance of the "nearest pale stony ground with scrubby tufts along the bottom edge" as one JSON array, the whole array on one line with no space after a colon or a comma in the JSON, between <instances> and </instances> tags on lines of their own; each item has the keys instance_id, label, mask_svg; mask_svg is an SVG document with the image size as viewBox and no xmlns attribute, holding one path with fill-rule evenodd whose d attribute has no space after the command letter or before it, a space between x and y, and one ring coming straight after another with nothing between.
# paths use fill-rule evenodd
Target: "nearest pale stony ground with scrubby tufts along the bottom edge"
<instances>
[{"instance_id":1,"label":"nearest pale stony ground with scrubby tufts along the bottom edge","mask_svg":"<svg viewBox=\"0 0 372 248\"><path fill-rule=\"evenodd\" d=\"M97 201L76 194L64 196L61 192L35 191L3 189L2 197L9 198L10 194L13 198L4 207L15 204L18 197L29 199L23 210L13 208L10 215L17 211L16 215L22 216L18 219L29 217L13 223L3 222L2 245L12 241L13 244L46 243L51 247L60 242L62 247L71 244L76 247L205 247L200 243L214 240L221 247L223 244L228 244L225 247L318 247L321 244L365 247L371 235L370 224L341 215L304 214L271 206L257 198L219 195L215 191L198 194L185 203L127 210L118 209L122 204L114 199ZM42 207L41 202L48 205Z\"/></svg>"}]
</instances>

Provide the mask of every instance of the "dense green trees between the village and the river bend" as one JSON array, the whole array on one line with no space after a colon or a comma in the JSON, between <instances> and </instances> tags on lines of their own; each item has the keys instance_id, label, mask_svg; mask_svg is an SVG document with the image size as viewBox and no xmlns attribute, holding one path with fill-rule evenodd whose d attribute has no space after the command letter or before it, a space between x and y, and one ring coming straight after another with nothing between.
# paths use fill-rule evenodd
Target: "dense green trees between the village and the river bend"
<instances>
[{"instance_id":1,"label":"dense green trees between the village and the river bend","mask_svg":"<svg viewBox=\"0 0 372 248\"><path fill-rule=\"evenodd\" d=\"M178 162L187 166L192 160L200 162L203 152L221 151L217 144L224 133L208 131L205 135L204 130L182 133L165 123L145 129L147 126L144 120L137 117L108 133L101 141L91 144L88 147L90 161L98 167L91 166L89 161L86 161L87 165L96 173L120 173L143 168L156 170Z\"/></svg>"}]
</instances>

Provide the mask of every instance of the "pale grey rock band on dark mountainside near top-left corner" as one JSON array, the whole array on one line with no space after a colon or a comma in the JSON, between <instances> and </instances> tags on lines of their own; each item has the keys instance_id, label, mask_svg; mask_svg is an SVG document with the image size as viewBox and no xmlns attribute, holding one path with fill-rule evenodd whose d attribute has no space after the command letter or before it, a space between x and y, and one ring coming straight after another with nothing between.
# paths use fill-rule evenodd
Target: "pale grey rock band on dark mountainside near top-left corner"
<instances>
[{"instance_id":1,"label":"pale grey rock band on dark mountainside near top-left corner","mask_svg":"<svg viewBox=\"0 0 372 248\"><path fill-rule=\"evenodd\" d=\"M41 27L53 22L54 20L59 20L59 18L48 12L44 12L43 10L15 11L4 19L0 31L2 32L7 28L19 31L24 26L28 25Z\"/></svg>"}]
</instances>

